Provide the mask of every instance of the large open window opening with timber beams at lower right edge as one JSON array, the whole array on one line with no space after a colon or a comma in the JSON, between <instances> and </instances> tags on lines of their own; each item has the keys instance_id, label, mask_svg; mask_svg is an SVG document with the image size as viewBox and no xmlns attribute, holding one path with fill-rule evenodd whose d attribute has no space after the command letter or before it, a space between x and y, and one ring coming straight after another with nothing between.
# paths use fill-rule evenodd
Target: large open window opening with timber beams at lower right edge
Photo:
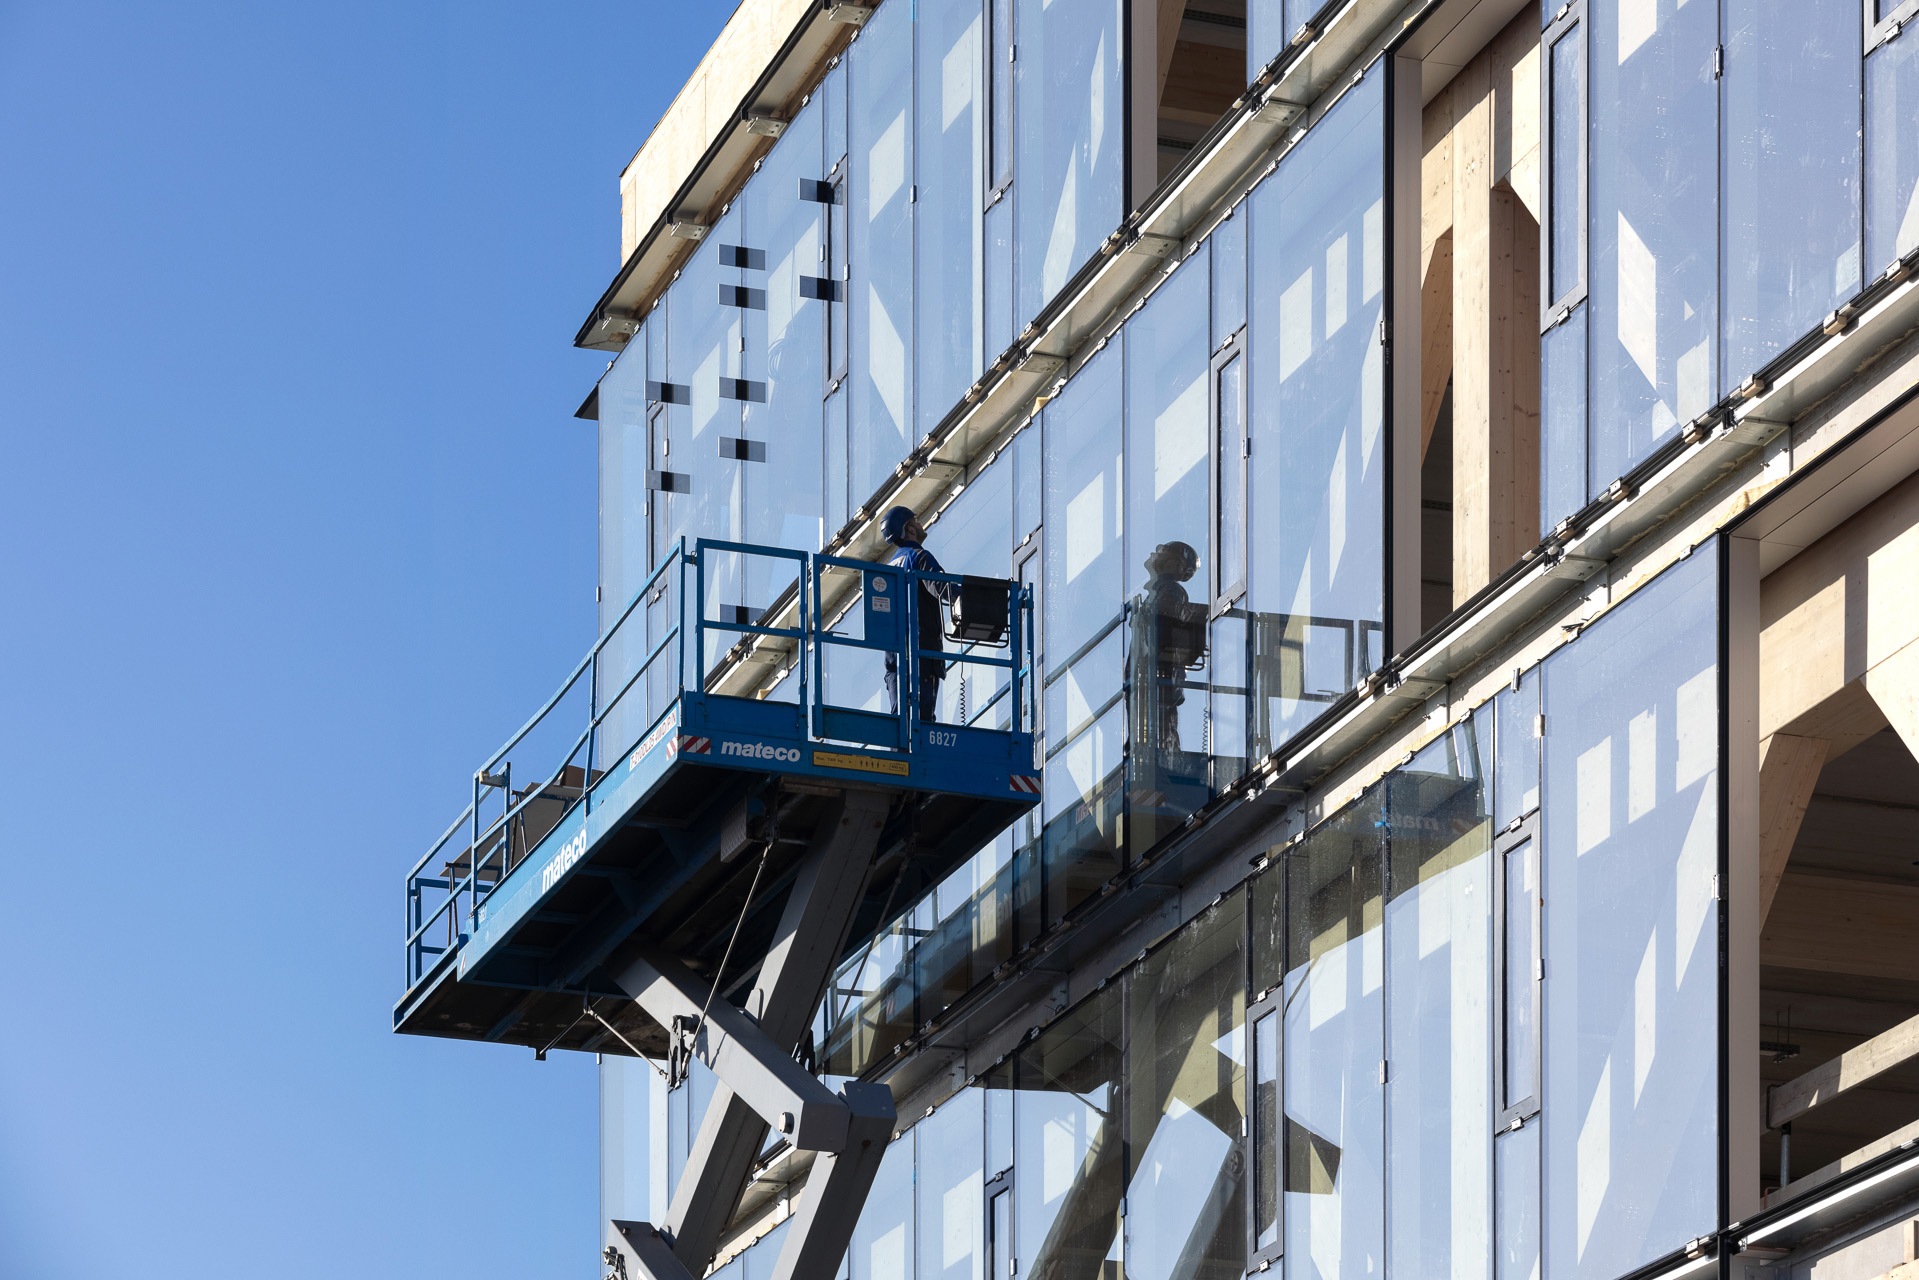
<instances>
[{"instance_id":1,"label":"large open window opening with timber beams at lower right edge","mask_svg":"<svg viewBox=\"0 0 1919 1280\"><path fill-rule=\"evenodd\" d=\"M1915 547L1907 476L1760 580L1744 1031L1767 1207L1919 1138L1919 612L1911 572L1892 568Z\"/></svg>"}]
</instances>

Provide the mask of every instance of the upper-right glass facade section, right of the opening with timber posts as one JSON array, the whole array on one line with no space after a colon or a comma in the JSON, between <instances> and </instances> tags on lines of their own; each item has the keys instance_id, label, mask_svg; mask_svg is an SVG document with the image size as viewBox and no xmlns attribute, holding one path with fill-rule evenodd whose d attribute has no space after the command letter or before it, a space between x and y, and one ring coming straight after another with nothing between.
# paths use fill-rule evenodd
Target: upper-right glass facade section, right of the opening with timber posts
<instances>
[{"instance_id":1,"label":"upper-right glass facade section, right of the opening with timber posts","mask_svg":"<svg viewBox=\"0 0 1919 1280\"><path fill-rule=\"evenodd\" d=\"M1852 0L1543 19L1551 530L1919 248L1919 56Z\"/></svg>"}]
</instances>

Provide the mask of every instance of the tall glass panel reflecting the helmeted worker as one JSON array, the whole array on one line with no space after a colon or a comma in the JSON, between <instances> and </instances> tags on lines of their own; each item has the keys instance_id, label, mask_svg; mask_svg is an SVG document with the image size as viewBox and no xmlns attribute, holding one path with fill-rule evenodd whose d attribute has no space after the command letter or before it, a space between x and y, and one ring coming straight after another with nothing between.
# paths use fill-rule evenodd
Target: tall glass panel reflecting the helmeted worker
<instances>
[{"instance_id":1,"label":"tall glass panel reflecting the helmeted worker","mask_svg":"<svg viewBox=\"0 0 1919 1280\"><path fill-rule=\"evenodd\" d=\"M1211 574L1199 553L1207 545L1207 273L1199 261L1161 284L1125 330L1128 791L1142 846L1209 794L1203 693Z\"/></svg>"}]
</instances>

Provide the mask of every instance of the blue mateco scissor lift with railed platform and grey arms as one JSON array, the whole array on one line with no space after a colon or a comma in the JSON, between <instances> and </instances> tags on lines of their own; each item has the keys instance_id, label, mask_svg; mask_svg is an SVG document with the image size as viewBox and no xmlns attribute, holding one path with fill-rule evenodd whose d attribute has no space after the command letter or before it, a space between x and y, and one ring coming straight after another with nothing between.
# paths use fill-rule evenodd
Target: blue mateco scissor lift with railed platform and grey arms
<instances>
[{"instance_id":1,"label":"blue mateco scissor lift with railed platform and grey arms","mask_svg":"<svg viewBox=\"0 0 1919 1280\"><path fill-rule=\"evenodd\" d=\"M783 587L764 614L722 603L746 580ZM936 599L954 606L958 649L919 647ZM827 1094L794 1052L841 958L1038 802L1031 608L1011 581L679 545L476 771L472 804L409 873L395 1031L699 1057L720 1077L725 1105L670 1221L614 1222L608 1265L700 1274L768 1125L823 1153L777 1276L839 1265L890 1094ZM927 662L998 670L975 723L912 712ZM898 674L890 702L881 666ZM568 702L587 704L568 725L583 731L560 733L516 789L514 756L555 737ZM1006 727L977 723L988 718Z\"/></svg>"}]
</instances>

